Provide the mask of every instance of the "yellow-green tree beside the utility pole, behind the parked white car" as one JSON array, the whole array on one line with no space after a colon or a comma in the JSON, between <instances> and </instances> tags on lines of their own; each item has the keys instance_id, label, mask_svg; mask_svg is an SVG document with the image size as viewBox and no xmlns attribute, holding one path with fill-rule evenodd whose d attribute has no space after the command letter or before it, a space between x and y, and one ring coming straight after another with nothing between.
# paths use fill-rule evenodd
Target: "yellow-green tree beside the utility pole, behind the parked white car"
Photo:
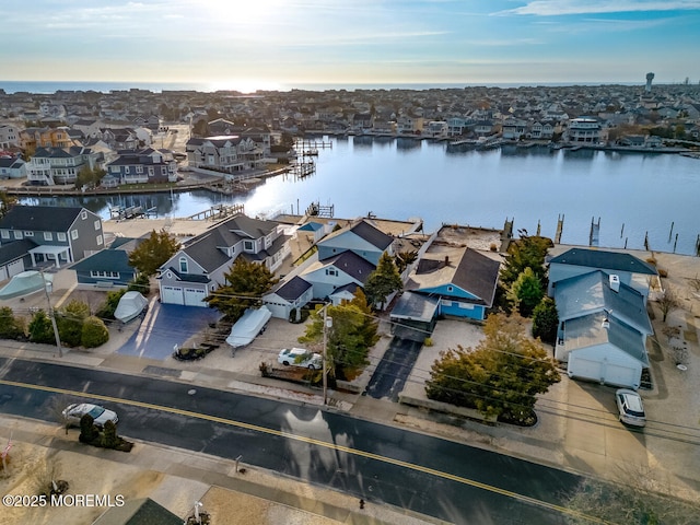
<instances>
[{"instance_id":1,"label":"yellow-green tree beside the utility pole, behind the parked white car","mask_svg":"<svg viewBox=\"0 0 700 525\"><path fill-rule=\"evenodd\" d=\"M306 331L299 338L299 342L322 350L324 307L327 308L326 316L332 319L326 334L328 374L331 377L345 380L351 370L368 363L369 349L378 340L378 325L371 315L371 308L364 294L358 290L352 301L343 302L337 306L318 305L312 312Z\"/></svg>"}]
</instances>

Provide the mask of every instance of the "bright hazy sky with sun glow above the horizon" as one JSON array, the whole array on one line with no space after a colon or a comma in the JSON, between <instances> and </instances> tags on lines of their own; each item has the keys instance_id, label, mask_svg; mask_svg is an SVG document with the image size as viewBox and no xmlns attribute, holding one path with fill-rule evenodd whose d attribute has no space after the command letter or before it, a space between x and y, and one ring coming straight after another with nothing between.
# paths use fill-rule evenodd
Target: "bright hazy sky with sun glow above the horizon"
<instances>
[{"instance_id":1,"label":"bright hazy sky with sun glow above the horizon","mask_svg":"<svg viewBox=\"0 0 700 525\"><path fill-rule=\"evenodd\" d=\"M700 0L2 0L0 20L4 81L700 80Z\"/></svg>"}]
</instances>

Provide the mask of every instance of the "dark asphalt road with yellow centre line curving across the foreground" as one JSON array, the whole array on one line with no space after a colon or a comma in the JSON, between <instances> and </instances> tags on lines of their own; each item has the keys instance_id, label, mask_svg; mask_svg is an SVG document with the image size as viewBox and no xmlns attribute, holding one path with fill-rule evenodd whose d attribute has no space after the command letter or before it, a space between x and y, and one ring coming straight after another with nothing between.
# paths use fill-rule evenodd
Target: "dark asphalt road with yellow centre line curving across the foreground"
<instances>
[{"instance_id":1,"label":"dark asphalt road with yellow centre line curving across the foreground","mask_svg":"<svg viewBox=\"0 0 700 525\"><path fill-rule=\"evenodd\" d=\"M36 386L33 386L36 385ZM236 458L452 523L560 524L580 477L402 429L159 378L0 358L0 411L51 420L81 392L119 434Z\"/></svg>"}]
</instances>

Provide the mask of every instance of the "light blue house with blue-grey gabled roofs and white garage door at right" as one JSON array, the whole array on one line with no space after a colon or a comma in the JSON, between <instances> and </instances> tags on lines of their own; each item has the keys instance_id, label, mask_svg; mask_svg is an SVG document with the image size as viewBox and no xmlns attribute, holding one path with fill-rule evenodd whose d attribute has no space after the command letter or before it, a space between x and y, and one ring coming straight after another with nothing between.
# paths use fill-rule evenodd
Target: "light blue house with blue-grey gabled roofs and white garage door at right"
<instances>
[{"instance_id":1,"label":"light blue house with blue-grey gabled roofs and white garage door at right","mask_svg":"<svg viewBox=\"0 0 700 525\"><path fill-rule=\"evenodd\" d=\"M653 332L645 296L602 270L562 279L555 288L559 330L555 357L570 377L639 388Z\"/></svg>"}]
</instances>

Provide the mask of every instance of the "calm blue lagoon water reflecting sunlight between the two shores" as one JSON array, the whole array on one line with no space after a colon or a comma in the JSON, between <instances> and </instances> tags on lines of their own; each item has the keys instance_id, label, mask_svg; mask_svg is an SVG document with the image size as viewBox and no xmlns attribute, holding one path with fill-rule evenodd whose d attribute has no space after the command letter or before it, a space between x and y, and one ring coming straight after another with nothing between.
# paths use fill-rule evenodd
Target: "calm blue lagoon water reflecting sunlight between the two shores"
<instances>
[{"instance_id":1,"label":"calm blue lagoon water reflecting sunlight between the two shores","mask_svg":"<svg viewBox=\"0 0 700 525\"><path fill-rule=\"evenodd\" d=\"M700 161L675 154L551 151L505 147L450 152L445 143L412 139L327 139L317 171L304 179L269 178L244 197L208 191L75 203L108 217L108 205L156 207L184 217L218 202L244 202L246 212L296 212L314 201L334 205L339 218L420 217L425 229L442 223L515 229L553 236L564 215L562 243L587 244L591 221L600 220L599 245L650 247L693 254L700 234ZM37 199L31 199L38 202ZM672 223L673 235L669 241Z\"/></svg>"}]
</instances>

